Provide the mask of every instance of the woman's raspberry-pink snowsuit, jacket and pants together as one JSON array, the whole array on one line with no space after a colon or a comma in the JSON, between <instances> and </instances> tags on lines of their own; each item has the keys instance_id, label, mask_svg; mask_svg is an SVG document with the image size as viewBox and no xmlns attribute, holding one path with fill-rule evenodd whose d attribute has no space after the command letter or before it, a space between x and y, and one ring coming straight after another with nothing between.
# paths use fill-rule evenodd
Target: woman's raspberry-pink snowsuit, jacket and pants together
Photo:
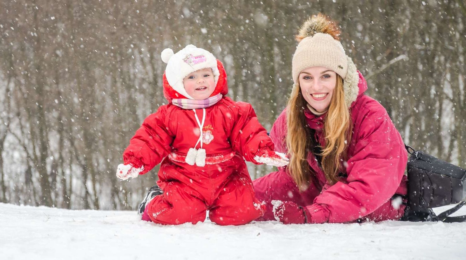
<instances>
[{"instance_id":1,"label":"woman's raspberry-pink snowsuit, jacket and pants together","mask_svg":"<svg viewBox=\"0 0 466 260\"><path fill-rule=\"evenodd\" d=\"M266 202L266 212L258 220L274 220L270 201L292 201L305 206L311 215L308 223L344 223L359 218L373 221L399 219L404 205L395 209L391 197L406 195L407 153L403 140L385 108L366 96L367 83L359 73L359 94L350 107L353 135L349 143L346 172L339 182L329 185L312 153L307 161L316 182L299 192L286 168L279 168L254 180L256 196ZM315 129L315 140L325 145L322 134L325 114L315 116L305 110L308 126ZM276 119L270 136L278 152L287 153L286 109ZM364 218L363 218L364 217Z\"/></svg>"}]
</instances>

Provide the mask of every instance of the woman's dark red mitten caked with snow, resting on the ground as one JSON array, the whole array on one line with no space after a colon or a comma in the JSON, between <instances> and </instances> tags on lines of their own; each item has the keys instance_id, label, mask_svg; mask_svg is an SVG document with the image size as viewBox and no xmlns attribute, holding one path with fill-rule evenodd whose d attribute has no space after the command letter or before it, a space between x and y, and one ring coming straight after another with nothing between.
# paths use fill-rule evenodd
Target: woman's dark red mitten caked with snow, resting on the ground
<instances>
[{"instance_id":1,"label":"woman's dark red mitten caked with snow, resting on the ground","mask_svg":"<svg viewBox=\"0 0 466 260\"><path fill-rule=\"evenodd\" d=\"M298 204L291 201L273 200L272 211L277 221L283 224L305 224L306 209L298 206Z\"/></svg>"}]
</instances>

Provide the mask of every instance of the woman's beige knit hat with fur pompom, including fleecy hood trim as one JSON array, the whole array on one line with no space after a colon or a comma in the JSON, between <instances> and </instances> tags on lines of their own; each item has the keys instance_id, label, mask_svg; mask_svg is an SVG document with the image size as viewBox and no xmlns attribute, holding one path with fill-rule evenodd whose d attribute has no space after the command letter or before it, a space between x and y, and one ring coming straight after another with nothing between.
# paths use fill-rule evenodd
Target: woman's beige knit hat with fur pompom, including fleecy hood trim
<instances>
[{"instance_id":1,"label":"woman's beige knit hat with fur pompom, including fleecy hood trim","mask_svg":"<svg viewBox=\"0 0 466 260\"><path fill-rule=\"evenodd\" d=\"M302 70L322 66L335 71L343 78L345 101L348 107L356 100L359 74L340 43L340 29L334 21L323 14L311 16L299 29L292 61L293 81L298 82Z\"/></svg>"}]
</instances>

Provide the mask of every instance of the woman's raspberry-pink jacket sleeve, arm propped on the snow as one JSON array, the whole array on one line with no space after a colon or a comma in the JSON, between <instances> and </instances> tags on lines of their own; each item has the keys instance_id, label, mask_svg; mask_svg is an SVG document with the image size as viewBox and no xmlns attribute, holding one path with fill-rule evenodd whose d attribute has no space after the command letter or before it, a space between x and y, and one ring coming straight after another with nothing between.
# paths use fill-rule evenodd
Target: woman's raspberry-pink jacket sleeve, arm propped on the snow
<instances>
[{"instance_id":1,"label":"woman's raspberry-pink jacket sleeve, arm propped on the snow","mask_svg":"<svg viewBox=\"0 0 466 260\"><path fill-rule=\"evenodd\" d=\"M406 168L403 140L386 110L368 111L355 124L347 183L337 182L307 206L309 223L354 221L377 210L397 190ZM357 129L356 129L357 127Z\"/></svg>"}]
</instances>

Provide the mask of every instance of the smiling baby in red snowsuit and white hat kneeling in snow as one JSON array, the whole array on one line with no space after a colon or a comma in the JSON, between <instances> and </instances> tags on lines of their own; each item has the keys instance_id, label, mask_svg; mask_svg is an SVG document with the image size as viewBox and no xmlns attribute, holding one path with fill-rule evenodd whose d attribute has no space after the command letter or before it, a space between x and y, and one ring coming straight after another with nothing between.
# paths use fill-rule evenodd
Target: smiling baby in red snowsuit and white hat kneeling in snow
<instances>
[{"instance_id":1,"label":"smiling baby in red snowsuit and white hat kneeling in snow","mask_svg":"<svg viewBox=\"0 0 466 260\"><path fill-rule=\"evenodd\" d=\"M244 159L285 166L252 106L226 97L223 64L205 49L164 49L168 105L148 116L118 165L122 180L158 171L161 194L146 201L142 218L176 225L209 218L219 225L243 225L262 216Z\"/></svg>"}]
</instances>

